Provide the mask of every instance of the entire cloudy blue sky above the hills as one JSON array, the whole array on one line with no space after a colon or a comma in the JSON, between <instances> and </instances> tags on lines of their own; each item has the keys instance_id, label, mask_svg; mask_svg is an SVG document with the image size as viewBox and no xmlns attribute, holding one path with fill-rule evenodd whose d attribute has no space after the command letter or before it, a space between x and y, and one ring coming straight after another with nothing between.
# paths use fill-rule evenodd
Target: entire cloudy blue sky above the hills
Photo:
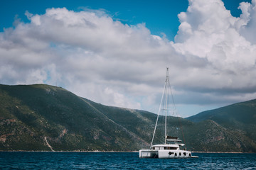
<instances>
[{"instance_id":1,"label":"entire cloudy blue sky above the hills","mask_svg":"<svg viewBox=\"0 0 256 170\"><path fill-rule=\"evenodd\" d=\"M256 98L256 0L1 0L0 84L186 118Z\"/></svg>"}]
</instances>

